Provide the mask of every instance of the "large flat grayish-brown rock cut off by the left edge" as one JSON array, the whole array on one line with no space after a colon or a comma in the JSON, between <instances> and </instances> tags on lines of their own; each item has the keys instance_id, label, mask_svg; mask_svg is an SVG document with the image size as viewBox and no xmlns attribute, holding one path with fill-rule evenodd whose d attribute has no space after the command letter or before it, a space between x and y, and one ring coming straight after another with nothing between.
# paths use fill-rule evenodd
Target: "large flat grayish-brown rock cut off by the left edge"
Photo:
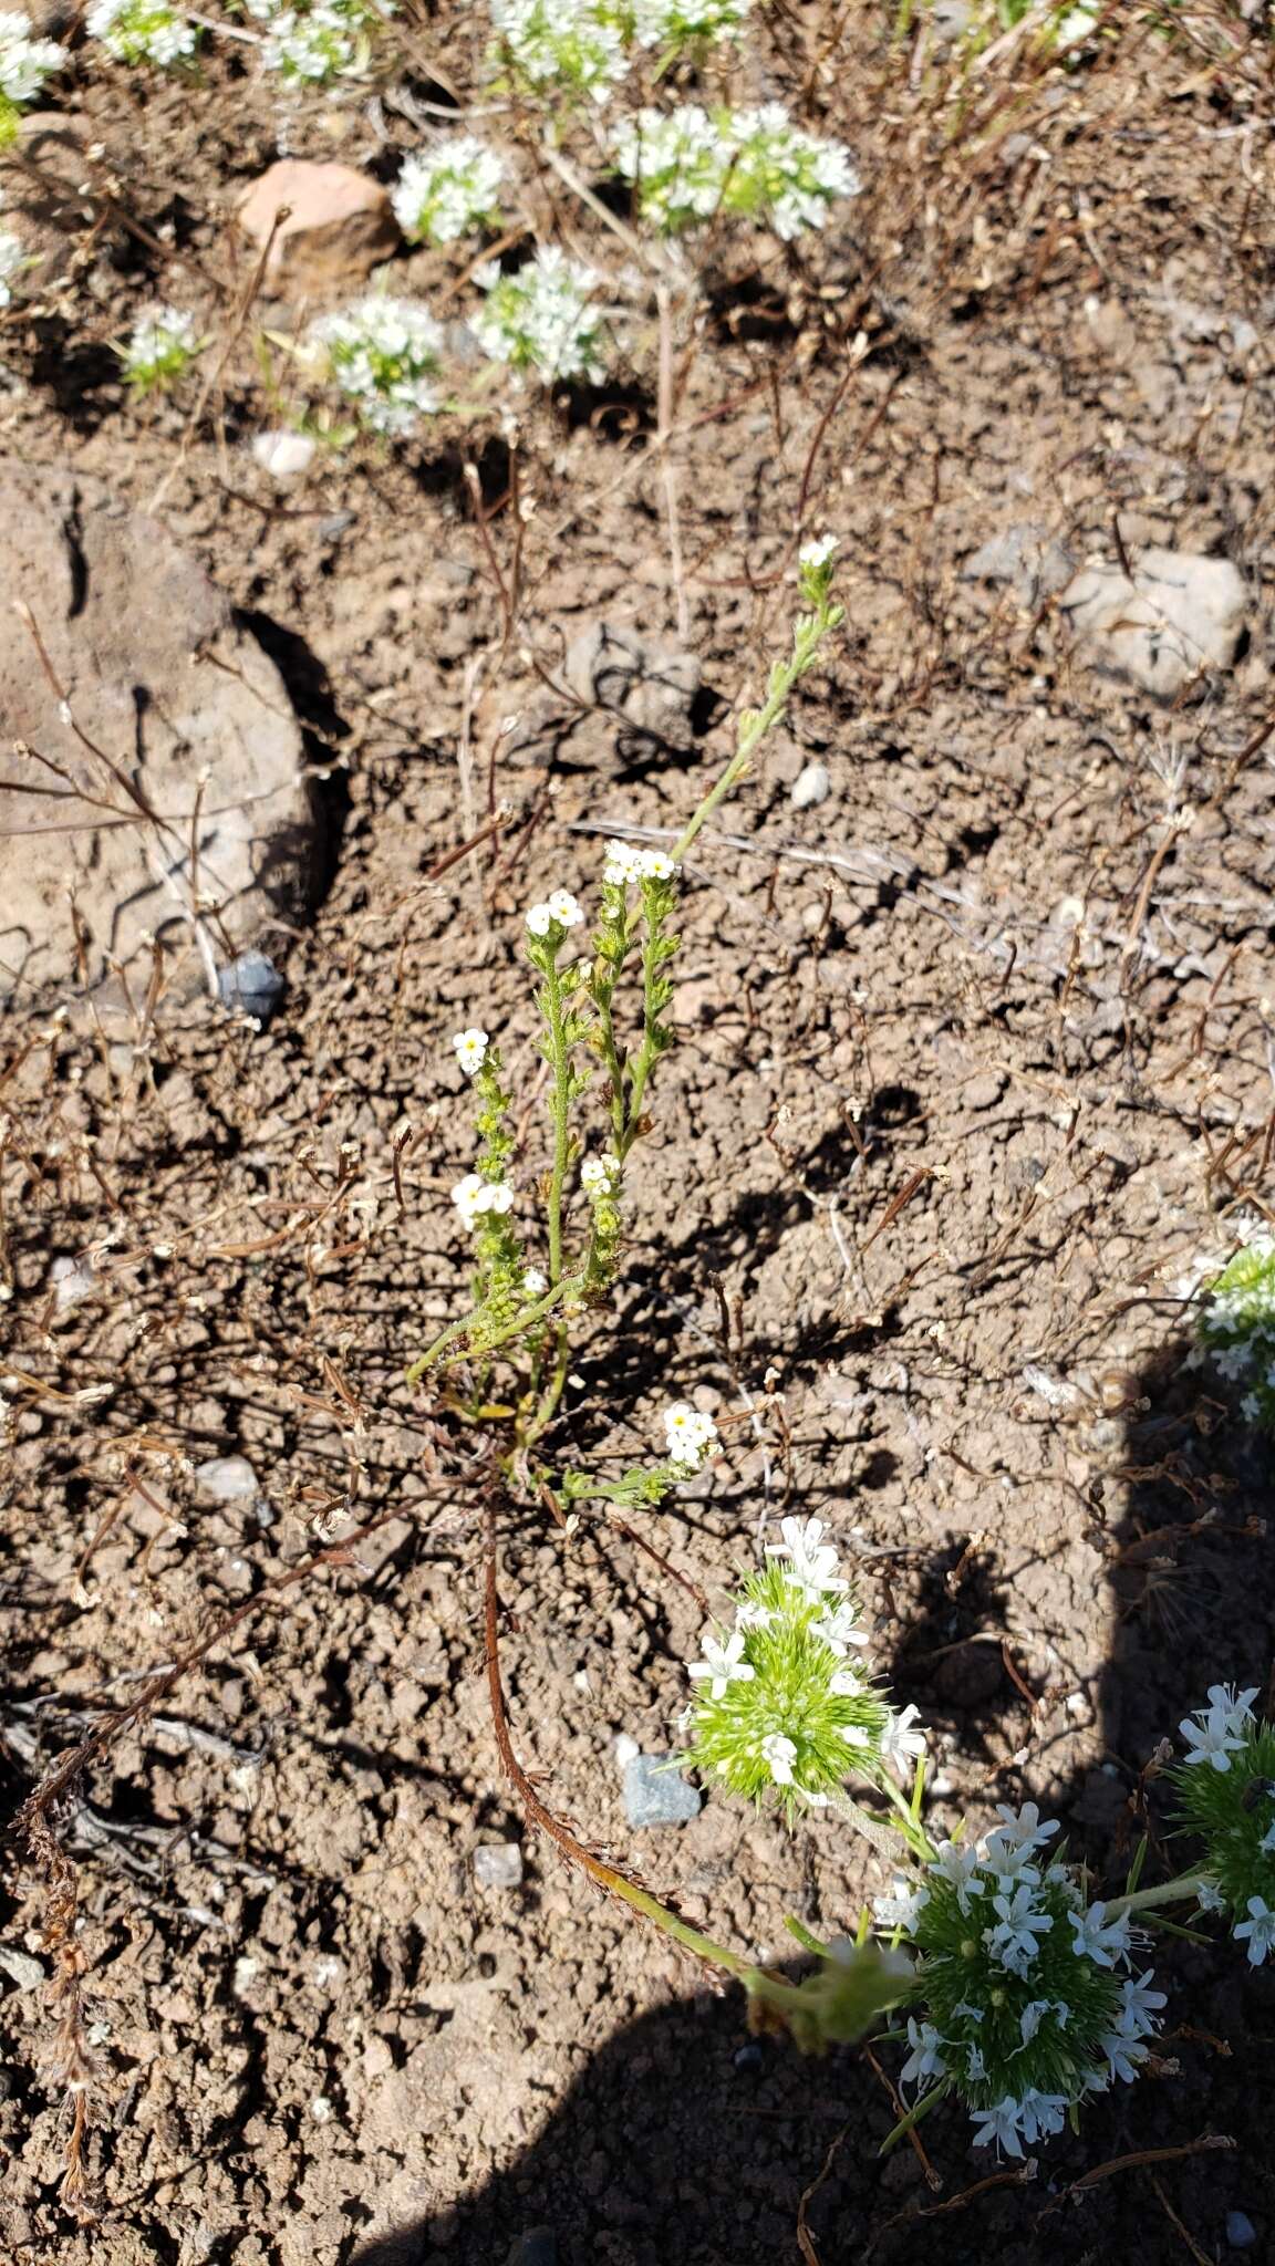
<instances>
[{"instance_id":1,"label":"large flat grayish-brown rock cut off by the left edge","mask_svg":"<svg viewBox=\"0 0 1275 2266\"><path fill-rule=\"evenodd\" d=\"M284 680L100 480L0 462L0 997L79 990L82 963L98 986L111 959L145 990L150 936L172 947L170 995L193 995L213 940L222 959L304 902L313 809Z\"/></svg>"}]
</instances>

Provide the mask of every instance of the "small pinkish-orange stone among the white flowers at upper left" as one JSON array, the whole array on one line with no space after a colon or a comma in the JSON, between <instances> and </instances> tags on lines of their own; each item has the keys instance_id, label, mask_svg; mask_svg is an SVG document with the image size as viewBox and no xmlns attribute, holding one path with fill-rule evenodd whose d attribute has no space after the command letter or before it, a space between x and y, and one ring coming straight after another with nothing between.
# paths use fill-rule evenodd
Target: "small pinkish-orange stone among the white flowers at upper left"
<instances>
[{"instance_id":1,"label":"small pinkish-orange stone among the white flowers at upper left","mask_svg":"<svg viewBox=\"0 0 1275 2266\"><path fill-rule=\"evenodd\" d=\"M284 208L288 218L279 220ZM259 258L270 245L261 281L275 299L336 301L399 245L386 190L354 165L279 159L252 184L236 218Z\"/></svg>"}]
</instances>

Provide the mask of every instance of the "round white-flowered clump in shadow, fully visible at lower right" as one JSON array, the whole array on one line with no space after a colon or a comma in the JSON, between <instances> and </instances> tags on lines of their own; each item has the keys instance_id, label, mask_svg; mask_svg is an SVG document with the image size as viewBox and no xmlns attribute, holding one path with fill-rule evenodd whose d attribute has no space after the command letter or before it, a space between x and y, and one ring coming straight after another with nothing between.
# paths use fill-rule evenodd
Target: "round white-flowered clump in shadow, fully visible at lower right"
<instances>
[{"instance_id":1,"label":"round white-flowered clump in shadow, fully visible at lower right","mask_svg":"<svg viewBox=\"0 0 1275 2266\"><path fill-rule=\"evenodd\" d=\"M901 2082L960 2096L976 2146L1021 2157L1073 2103L1137 2078L1164 1992L1130 1971L1128 1913L1087 1903L1080 1872L1048 1860L1057 1820L1035 1801L998 1817L973 1847L942 1842L878 1924L919 1953Z\"/></svg>"}]
</instances>

